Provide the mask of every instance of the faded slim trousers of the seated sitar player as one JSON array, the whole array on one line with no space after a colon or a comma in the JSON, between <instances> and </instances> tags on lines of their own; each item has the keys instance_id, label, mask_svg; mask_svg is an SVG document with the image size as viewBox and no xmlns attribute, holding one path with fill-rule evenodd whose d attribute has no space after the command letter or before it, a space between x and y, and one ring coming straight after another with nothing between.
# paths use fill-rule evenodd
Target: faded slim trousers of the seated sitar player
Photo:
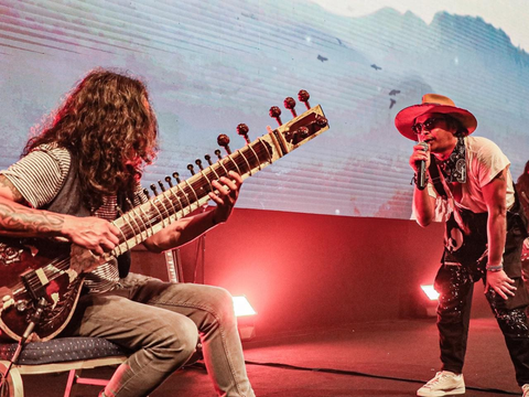
<instances>
[{"instance_id":1,"label":"faded slim trousers of the seated sitar player","mask_svg":"<svg viewBox=\"0 0 529 397\"><path fill-rule=\"evenodd\" d=\"M64 334L105 337L133 352L106 386L107 397L148 396L198 341L217 395L255 397L231 296L222 288L129 273L110 292L82 296Z\"/></svg>"}]
</instances>

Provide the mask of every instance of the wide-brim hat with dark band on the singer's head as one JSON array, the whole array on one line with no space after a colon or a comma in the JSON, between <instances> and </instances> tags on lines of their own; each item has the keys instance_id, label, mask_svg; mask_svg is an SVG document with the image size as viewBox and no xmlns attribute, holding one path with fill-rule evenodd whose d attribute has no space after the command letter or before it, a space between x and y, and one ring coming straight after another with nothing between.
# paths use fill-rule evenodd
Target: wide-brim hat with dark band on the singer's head
<instances>
[{"instance_id":1,"label":"wide-brim hat with dark band on the singer's head","mask_svg":"<svg viewBox=\"0 0 529 397\"><path fill-rule=\"evenodd\" d=\"M417 141L417 135L411 130L415 119L424 114L450 115L461 121L468 133L474 132L477 127L477 120L473 114L466 109L458 108L449 97L438 94L425 94L422 97L422 104L409 106L400 110L395 117L395 126L406 138Z\"/></svg>"}]
</instances>

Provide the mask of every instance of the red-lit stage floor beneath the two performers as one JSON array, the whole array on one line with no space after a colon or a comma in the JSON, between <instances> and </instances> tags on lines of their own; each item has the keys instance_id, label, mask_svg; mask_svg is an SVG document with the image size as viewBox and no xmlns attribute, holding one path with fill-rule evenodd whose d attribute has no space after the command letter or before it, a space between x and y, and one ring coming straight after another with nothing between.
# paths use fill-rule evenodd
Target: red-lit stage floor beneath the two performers
<instances>
[{"instance_id":1,"label":"red-lit stage floor beneath the two performers","mask_svg":"<svg viewBox=\"0 0 529 397\"><path fill-rule=\"evenodd\" d=\"M439 369L434 319L361 323L245 342L258 397L414 396ZM111 368L87 375L111 374ZM85 375L85 374L84 374ZM521 396L504 339L492 318L471 322L465 396ZM25 376L26 397L61 397L66 375ZM79 386L79 397L98 387ZM173 374L151 397L215 396L201 362Z\"/></svg>"}]
</instances>

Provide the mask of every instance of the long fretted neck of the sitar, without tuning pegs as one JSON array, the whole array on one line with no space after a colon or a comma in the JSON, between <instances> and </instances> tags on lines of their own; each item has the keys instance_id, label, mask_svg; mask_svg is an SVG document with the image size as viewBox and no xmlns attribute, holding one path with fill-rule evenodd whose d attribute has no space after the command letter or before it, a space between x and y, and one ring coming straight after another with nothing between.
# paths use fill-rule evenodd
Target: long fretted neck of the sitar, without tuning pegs
<instances>
[{"instance_id":1,"label":"long fretted neck of the sitar, without tuning pegs","mask_svg":"<svg viewBox=\"0 0 529 397\"><path fill-rule=\"evenodd\" d=\"M229 171L247 179L326 129L328 127L323 110L316 106L149 198L114 222L120 230L120 243L112 250L112 255L119 256L132 249L206 204L209 200L208 193L215 192L212 182L222 176L229 178Z\"/></svg>"}]
</instances>

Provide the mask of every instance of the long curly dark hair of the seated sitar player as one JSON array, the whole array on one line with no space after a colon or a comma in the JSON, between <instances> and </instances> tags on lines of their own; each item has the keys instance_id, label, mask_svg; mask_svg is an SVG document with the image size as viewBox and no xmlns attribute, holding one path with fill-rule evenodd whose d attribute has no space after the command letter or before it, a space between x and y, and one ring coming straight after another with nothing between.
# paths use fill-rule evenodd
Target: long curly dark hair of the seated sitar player
<instances>
[{"instance_id":1,"label":"long curly dark hair of the seated sitar player","mask_svg":"<svg viewBox=\"0 0 529 397\"><path fill-rule=\"evenodd\" d=\"M77 161L87 208L97 210L105 195L130 196L158 152L158 122L144 84L126 74L91 71L22 154L44 143L67 149Z\"/></svg>"}]
</instances>

